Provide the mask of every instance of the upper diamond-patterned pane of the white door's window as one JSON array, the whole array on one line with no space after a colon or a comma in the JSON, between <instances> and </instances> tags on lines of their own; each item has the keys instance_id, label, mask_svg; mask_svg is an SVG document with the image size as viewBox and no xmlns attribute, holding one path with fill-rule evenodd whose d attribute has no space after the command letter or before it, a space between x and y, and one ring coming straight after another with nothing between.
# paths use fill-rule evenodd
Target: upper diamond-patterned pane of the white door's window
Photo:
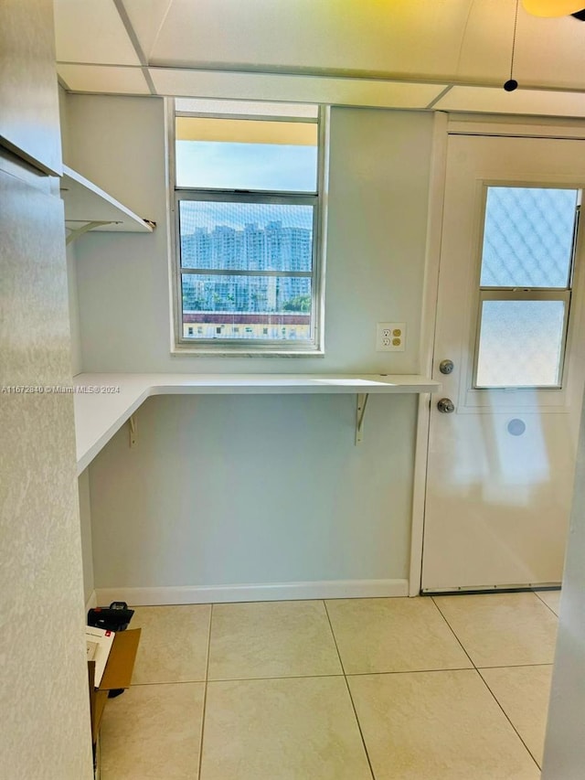
<instances>
[{"instance_id":1,"label":"upper diamond-patterned pane of the white door's window","mask_svg":"<svg viewBox=\"0 0 585 780\"><path fill-rule=\"evenodd\" d=\"M482 287L568 287L578 190L489 187Z\"/></svg>"}]
</instances>

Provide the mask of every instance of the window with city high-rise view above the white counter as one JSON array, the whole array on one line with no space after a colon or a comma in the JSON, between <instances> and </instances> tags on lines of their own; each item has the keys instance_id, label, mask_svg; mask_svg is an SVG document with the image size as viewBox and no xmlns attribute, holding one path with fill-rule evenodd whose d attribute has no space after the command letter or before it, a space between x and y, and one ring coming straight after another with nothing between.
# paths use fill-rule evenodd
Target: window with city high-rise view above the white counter
<instances>
[{"instance_id":1,"label":"window with city high-rise view above the white counter","mask_svg":"<svg viewBox=\"0 0 585 780\"><path fill-rule=\"evenodd\" d=\"M316 106L176 101L177 350L322 354L322 124Z\"/></svg>"}]
</instances>

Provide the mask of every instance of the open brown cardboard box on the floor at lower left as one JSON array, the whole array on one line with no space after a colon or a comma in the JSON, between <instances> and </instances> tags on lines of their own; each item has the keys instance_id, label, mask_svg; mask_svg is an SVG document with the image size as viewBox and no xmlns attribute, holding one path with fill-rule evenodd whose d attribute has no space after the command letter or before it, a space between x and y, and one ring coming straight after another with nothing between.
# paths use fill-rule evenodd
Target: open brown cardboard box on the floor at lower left
<instances>
[{"instance_id":1,"label":"open brown cardboard box on the floor at lower left","mask_svg":"<svg viewBox=\"0 0 585 780\"><path fill-rule=\"evenodd\" d=\"M108 691L119 688L130 688L134 661L140 641L140 628L118 631L112 642L112 648L106 668L98 688L95 687L95 661L88 661L88 679L90 683L91 712L91 742L95 745L100 732L101 715L103 714Z\"/></svg>"}]
</instances>

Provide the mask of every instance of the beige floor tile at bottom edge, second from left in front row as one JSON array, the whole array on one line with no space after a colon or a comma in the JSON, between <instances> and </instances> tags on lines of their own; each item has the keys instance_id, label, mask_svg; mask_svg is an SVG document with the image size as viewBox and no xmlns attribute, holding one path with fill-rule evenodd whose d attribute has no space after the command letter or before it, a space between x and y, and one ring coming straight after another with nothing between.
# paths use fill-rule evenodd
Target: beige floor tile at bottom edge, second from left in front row
<instances>
[{"instance_id":1,"label":"beige floor tile at bottom edge, second from left in front row","mask_svg":"<svg viewBox=\"0 0 585 780\"><path fill-rule=\"evenodd\" d=\"M210 682L201 780L371 780L342 677Z\"/></svg>"}]
</instances>

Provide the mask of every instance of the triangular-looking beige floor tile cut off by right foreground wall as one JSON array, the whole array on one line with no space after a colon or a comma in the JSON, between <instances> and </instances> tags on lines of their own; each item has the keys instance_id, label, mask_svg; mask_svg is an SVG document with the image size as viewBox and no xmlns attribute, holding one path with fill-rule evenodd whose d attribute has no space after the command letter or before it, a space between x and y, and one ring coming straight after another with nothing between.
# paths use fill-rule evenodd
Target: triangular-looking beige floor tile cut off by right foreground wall
<instances>
[{"instance_id":1,"label":"triangular-looking beige floor tile cut off by right foreground wall","mask_svg":"<svg viewBox=\"0 0 585 780\"><path fill-rule=\"evenodd\" d=\"M542 765L552 667L480 669L480 674L530 753Z\"/></svg>"}]
</instances>

